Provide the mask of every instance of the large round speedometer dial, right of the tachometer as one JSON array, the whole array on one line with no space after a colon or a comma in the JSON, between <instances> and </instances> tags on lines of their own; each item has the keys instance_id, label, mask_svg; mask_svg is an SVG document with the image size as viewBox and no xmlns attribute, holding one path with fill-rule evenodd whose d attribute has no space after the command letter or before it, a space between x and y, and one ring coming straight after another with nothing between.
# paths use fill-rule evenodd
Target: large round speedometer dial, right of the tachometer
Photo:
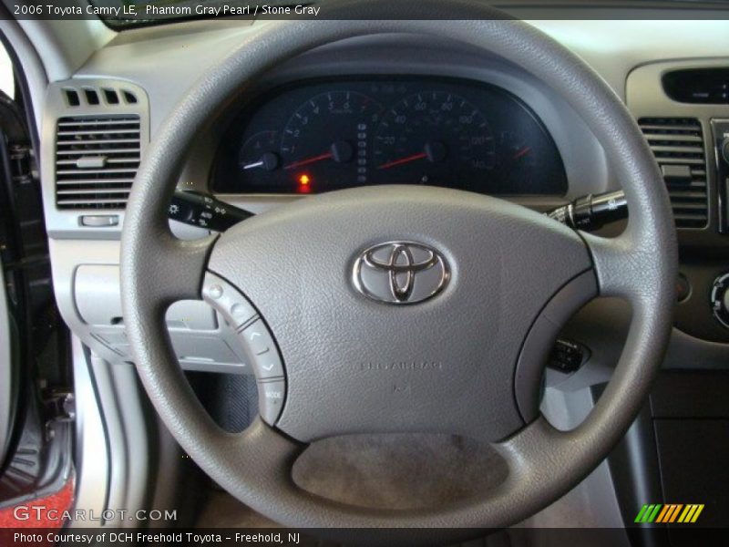
<instances>
[{"instance_id":1,"label":"large round speedometer dial, right of the tachometer","mask_svg":"<svg viewBox=\"0 0 729 547\"><path fill-rule=\"evenodd\" d=\"M379 181L456 188L474 180L487 184L496 163L495 141L488 121L467 99L424 91L385 113L373 160Z\"/></svg>"}]
</instances>

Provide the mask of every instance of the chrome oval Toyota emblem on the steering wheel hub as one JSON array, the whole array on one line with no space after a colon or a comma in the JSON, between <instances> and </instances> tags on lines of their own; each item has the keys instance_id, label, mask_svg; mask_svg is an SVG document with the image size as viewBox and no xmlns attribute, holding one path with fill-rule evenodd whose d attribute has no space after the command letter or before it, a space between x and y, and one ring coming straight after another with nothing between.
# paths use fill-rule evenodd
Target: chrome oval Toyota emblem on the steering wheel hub
<instances>
[{"instance_id":1,"label":"chrome oval Toyota emblem on the steering wheel hub","mask_svg":"<svg viewBox=\"0 0 729 547\"><path fill-rule=\"evenodd\" d=\"M423 243L380 243L354 262L354 287L385 304L423 302L440 293L449 278L446 259Z\"/></svg>"}]
</instances>

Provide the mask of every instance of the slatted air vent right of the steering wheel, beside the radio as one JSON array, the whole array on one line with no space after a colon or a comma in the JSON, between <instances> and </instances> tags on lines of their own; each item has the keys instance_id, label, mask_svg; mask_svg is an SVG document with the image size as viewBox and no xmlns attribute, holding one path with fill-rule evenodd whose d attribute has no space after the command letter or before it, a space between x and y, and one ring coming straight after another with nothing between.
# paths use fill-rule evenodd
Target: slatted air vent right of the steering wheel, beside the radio
<instances>
[{"instance_id":1,"label":"slatted air vent right of the steering wheel, beside the radio","mask_svg":"<svg viewBox=\"0 0 729 547\"><path fill-rule=\"evenodd\" d=\"M643 118L638 123L661 167L676 227L705 228L709 218L701 124L693 118Z\"/></svg>"}]
</instances>

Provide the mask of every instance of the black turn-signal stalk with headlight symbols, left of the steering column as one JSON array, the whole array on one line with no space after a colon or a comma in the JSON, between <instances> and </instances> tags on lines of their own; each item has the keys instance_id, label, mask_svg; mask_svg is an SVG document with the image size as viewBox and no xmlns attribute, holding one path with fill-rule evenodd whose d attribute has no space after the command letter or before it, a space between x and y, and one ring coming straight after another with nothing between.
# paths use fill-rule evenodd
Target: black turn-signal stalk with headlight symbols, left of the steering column
<instances>
[{"instance_id":1,"label":"black turn-signal stalk with headlight symbols, left of the steering column","mask_svg":"<svg viewBox=\"0 0 729 547\"><path fill-rule=\"evenodd\" d=\"M168 218L215 232L225 232L233 224L253 216L230 203L197 191L175 191L169 202Z\"/></svg>"}]
</instances>

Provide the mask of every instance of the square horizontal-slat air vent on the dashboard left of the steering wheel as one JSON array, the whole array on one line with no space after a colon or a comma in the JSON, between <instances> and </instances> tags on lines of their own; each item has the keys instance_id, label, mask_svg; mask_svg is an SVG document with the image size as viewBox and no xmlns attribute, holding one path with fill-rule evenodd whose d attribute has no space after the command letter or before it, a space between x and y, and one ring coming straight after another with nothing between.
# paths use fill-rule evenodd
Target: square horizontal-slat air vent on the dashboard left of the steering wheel
<instances>
[{"instance_id":1,"label":"square horizontal-slat air vent on the dashboard left of the steering wheel","mask_svg":"<svg viewBox=\"0 0 729 547\"><path fill-rule=\"evenodd\" d=\"M139 168L139 116L58 119L58 209L123 209Z\"/></svg>"}]
</instances>

